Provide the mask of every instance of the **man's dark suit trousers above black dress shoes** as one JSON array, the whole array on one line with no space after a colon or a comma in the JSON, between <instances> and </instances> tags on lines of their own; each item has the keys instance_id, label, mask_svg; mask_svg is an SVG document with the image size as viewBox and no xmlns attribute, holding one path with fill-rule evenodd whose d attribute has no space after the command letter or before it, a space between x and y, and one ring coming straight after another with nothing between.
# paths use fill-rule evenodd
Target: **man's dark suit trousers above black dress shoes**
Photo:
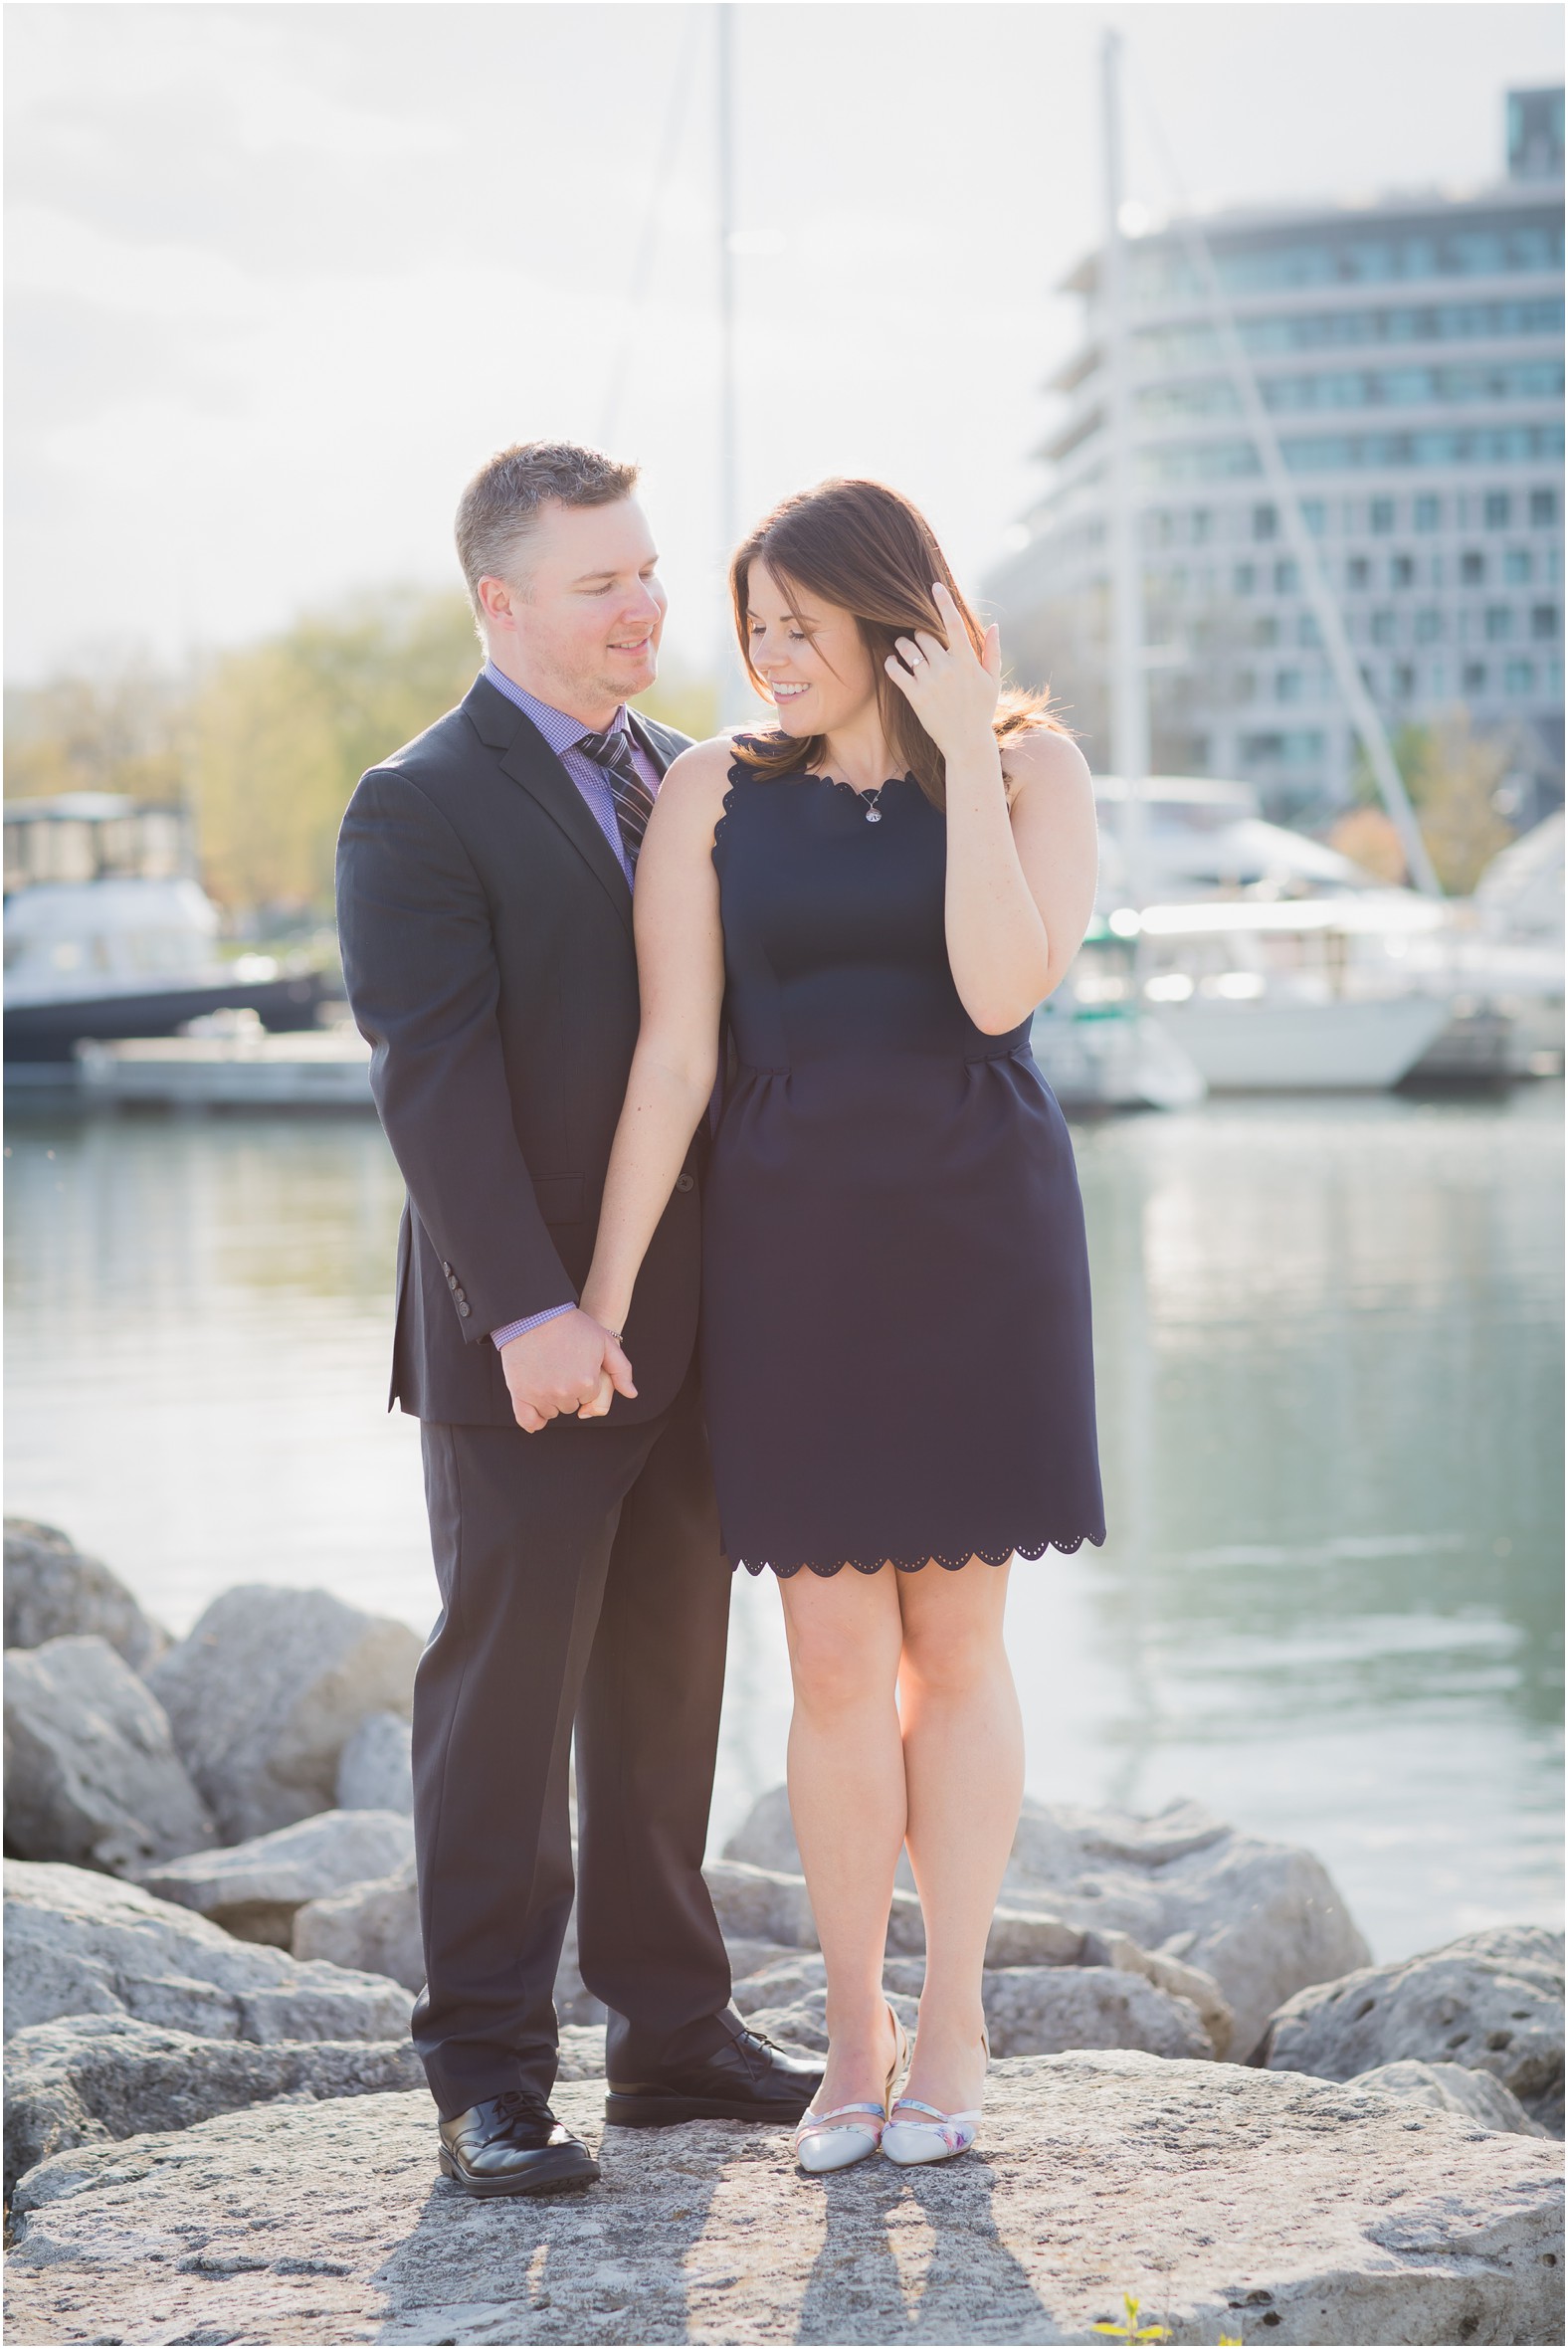
<instances>
[{"instance_id":1,"label":"man's dark suit trousers above black dress shoes","mask_svg":"<svg viewBox=\"0 0 1568 2349\"><path fill-rule=\"evenodd\" d=\"M577 1964L610 2077L657 2079L739 2027L702 1882L730 1569L695 1369L643 1423L420 1433L441 1590L413 1689L430 2091L453 2116L554 2086L573 1727Z\"/></svg>"}]
</instances>

